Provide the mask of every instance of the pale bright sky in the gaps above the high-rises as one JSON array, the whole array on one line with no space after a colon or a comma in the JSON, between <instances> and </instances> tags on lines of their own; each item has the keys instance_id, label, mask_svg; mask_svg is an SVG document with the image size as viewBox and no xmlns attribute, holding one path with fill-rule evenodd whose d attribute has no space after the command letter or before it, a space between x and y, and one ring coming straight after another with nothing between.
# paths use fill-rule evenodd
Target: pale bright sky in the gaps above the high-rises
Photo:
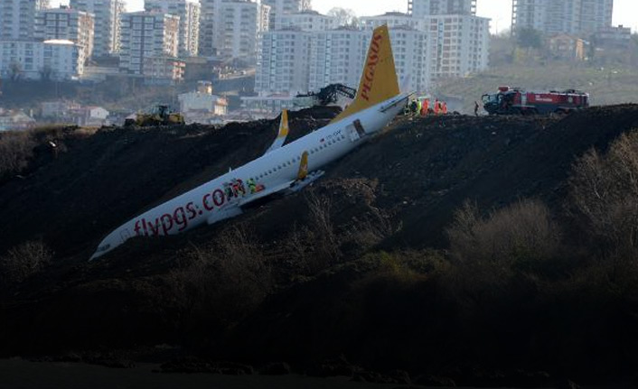
<instances>
[{"instance_id":1,"label":"pale bright sky in the gaps above the high-rises","mask_svg":"<svg viewBox=\"0 0 638 389\"><path fill-rule=\"evenodd\" d=\"M144 0L125 0L129 11L144 7ZM325 14L333 7L350 8L358 16L383 14L389 11L406 12L408 0L312 0L313 8ZM68 4L62 1L61 4ZM55 1L52 1L55 4ZM478 0L476 14L492 19L492 32L500 32L510 27L511 0ZM615 0L614 25L623 24L638 32L638 0Z\"/></svg>"}]
</instances>

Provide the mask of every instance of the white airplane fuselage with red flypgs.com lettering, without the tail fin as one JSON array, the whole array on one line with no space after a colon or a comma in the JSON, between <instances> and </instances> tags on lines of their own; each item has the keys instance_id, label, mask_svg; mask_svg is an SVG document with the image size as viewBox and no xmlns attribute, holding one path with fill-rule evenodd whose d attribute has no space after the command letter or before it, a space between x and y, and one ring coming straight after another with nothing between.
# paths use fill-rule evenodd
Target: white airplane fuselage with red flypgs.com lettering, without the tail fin
<instances>
[{"instance_id":1,"label":"white airplane fuselage with red flypgs.com lettering, without the tail fin","mask_svg":"<svg viewBox=\"0 0 638 389\"><path fill-rule=\"evenodd\" d=\"M407 97L401 94L344 117L144 212L104 238L91 259L108 253L129 237L179 234L238 215L239 207L250 197L270 194L271 190L274 193L296 181L303 153L308 153L308 171L333 162L361 144L365 135L387 125L403 109Z\"/></svg>"}]
</instances>

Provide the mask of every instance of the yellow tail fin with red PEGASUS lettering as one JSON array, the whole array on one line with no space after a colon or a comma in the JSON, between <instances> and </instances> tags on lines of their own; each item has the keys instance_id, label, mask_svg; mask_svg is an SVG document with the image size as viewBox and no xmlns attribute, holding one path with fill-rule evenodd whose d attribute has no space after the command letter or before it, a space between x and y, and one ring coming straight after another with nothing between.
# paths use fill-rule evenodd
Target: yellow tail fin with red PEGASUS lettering
<instances>
[{"instance_id":1,"label":"yellow tail fin with red PEGASUS lettering","mask_svg":"<svg viewBox=\"0 0 638 389\"><path fill-rule=\"evenodd\" d=\"M394 67L388 26L382 25L372 32L368 56L363 65L361 81L359 89L357 89L357 97L350 106L333 119L333 122L395 97L399 93L399 81L397 80L397 69Z\"/></svg>"}]
</instances>

